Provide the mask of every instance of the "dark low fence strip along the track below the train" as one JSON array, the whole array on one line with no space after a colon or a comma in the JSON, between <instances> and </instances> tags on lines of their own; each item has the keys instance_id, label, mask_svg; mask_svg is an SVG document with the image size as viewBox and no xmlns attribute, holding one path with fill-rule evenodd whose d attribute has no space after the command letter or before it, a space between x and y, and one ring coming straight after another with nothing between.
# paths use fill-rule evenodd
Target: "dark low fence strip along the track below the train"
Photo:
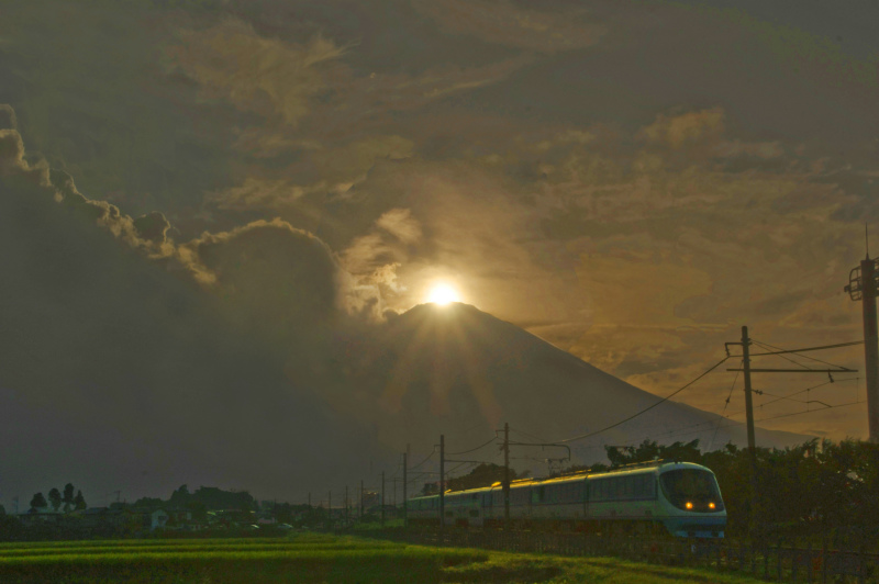
<instances>
[{"instance_id":1,"label":"dark low fence strip along the track below the train","mask_svg":"<svg viewBox=\"0 0 879 584\"><path fill-rule=\"evenodd\" d=\"M647 539L588 534L502 530L378 530L358 534L421 546L480 548L571 557L617 557L667 565L739 571L766 581L879 584L879 554L735 540Z\"/></svg>"}]
</instances>

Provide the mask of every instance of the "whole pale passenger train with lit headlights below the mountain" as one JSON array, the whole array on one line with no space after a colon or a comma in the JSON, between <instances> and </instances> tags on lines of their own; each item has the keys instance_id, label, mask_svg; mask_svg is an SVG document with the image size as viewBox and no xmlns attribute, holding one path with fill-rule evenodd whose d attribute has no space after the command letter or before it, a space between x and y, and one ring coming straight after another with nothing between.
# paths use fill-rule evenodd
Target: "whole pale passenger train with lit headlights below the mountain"
<instances>
[{"instance_id":1,"label":"whole pale passenger train with lit headlights below the mountain","mask_svg":"<svg viewBox=\"0 0 879 584\"><path fill-rule=\"evenodd\" d=\"M448 491L444 499L444 526L505 525L501 483ZM412 526L438 526L439 495L411 498L407 514ZM710 469L691 462L656 461L604 472L513 481L510 523L520 529L723 538L726 508Z\"/></svg>"}]
</instances>

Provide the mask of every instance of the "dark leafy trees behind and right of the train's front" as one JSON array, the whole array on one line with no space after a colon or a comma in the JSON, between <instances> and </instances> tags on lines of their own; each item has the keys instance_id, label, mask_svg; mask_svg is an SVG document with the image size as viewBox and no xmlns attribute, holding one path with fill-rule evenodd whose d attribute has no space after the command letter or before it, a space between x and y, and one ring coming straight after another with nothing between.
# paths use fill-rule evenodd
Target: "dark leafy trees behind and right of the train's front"
<instances>
[{"instance_id":1,"label":"dark leafy trees behind and right of the train's front","mask_svg":"<svg viewBox=\"0 0 879 584\"><path fill-rule=\"evenodd\" d=\"M717 476L728 517L727 534L744 536L750 518L750 459L726 445L701 452L699 440L669 446L607 447L613 467L654 458L708 467ZM879 445L810 440L792 448L756 449L757 527L768 532L815 534L879 530ZM596 467L592 470L598 470Z\"/></svg>"}]
</instances>

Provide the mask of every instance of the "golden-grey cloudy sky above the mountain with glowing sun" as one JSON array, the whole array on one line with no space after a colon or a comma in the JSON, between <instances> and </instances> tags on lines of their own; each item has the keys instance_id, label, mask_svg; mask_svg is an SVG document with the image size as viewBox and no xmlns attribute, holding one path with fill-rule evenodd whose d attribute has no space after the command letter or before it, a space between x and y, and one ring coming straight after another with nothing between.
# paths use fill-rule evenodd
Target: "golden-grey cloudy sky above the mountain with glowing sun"
<instances>
[{"instance_id":1,"label":"golden-grey cloudy sky above the mountain with glowing sun","mask_svg":"<svg viewBox=\"0 0 879 584\"><path fill-rule=\"evenodd\" d=\"M10 304L64 314L92 351L113 348L94 324L113 306L152 362L176 363L163 374L199 337L213 348L192 359L253 353L212 375L282 363L289 379L340 327L368 337L441 281L657 395L743 325L783 348L861 338L843 288L865 224L879 254L875 2L32 0L0 15L4 175L138 258L94 244L102 259L75 269L46 248L88 227L7 215L4 263L29 274ZM179 289L112 276L147 265ZM258 341L222 340L236 335ZM48 337L5 344L21 360L60 350ZM860 347L809 355L861 372L755 374L758 420L866 437ZM742 419L741 390L719 371L676 400Z\"/></svg>"}]
</instances>

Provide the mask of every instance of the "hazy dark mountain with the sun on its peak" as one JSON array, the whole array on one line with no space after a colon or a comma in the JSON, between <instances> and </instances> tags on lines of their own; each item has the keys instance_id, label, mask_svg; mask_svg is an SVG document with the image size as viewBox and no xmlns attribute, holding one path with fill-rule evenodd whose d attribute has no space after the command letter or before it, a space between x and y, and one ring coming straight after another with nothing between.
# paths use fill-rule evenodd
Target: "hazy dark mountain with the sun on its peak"
<instances>
[{"instance_id":1,"label":"hazy dark mountain with the sun on its peak","mask_svg":"<svg viewBox=\"0 0 879 584\"><path fill-rule=\"evenodd\" d=\"M421 304L383 326L378 345L352 385L353 408L372 416L380 440L430 451L444 434L449 452L489 440L509 423L511 439L558 441L587 435L656 404L660 397L622 381L475 306ZM518 433L518 434L516 434ZM783 447L805 436L757 429L757 443ZM603 459L604 445L689 441L720 448L746 445L735 424L667 401L592 438L572 440L575 461ZM522 448L526 461L561 458L565 450ZM497 451L481 451L497 458ZM545 467L544 467L545 470Z\"/></svg>"}]
</instances>

